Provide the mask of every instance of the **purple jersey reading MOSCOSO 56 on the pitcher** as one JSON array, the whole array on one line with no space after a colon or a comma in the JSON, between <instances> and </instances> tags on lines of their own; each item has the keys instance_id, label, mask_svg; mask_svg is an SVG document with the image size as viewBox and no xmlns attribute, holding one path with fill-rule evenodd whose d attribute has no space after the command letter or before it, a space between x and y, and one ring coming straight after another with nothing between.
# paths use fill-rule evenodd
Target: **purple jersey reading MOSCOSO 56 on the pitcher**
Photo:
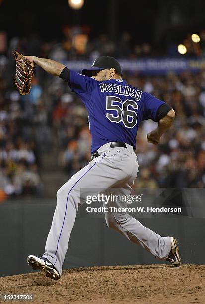
<instances>
[{"instance_id":1,"label":"purple jersey reading MOSCOSO 56 on the pitcher","mask_svg":"<svg viewBox=\"0 0 205 304\"><path fill-rule=\"evenodd\" d=\"M140 122L156 121L157 110L165 103L125 80L99 82L72 70L69 86L88 110L92 153L108 142L124 142L135 149Z\"/></svg>"}]
</instances>

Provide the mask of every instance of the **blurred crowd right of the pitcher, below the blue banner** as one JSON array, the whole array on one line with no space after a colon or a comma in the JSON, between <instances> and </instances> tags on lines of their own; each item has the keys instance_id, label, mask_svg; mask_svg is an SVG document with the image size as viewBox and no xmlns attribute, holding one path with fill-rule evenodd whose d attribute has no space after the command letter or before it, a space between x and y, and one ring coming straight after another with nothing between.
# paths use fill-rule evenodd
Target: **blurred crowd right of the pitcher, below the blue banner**
<instances>
[{"instance_id":1,"label":"blurred crowd right of the pitcher, below the blue banner","mask_svg":"<svg viewBox=\"0 0 205 304\"><path fill-rule=\"evenodd\" d=\"M137 87L175 110L173 126L156 147L146 142L154 122L144 122L137 136L139 176L136 187L205 187L205 71L133 78ZM130 79L132 82L132 79Z\"/></svg>"}]
</instances>

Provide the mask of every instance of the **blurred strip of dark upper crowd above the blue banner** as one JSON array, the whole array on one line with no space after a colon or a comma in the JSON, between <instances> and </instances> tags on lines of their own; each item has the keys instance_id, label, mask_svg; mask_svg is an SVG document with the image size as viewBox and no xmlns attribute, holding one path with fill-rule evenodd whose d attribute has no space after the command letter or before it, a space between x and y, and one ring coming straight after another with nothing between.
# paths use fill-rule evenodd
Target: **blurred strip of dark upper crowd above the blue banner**
<instances>
[{"instance_id":1,"label":"blurred strip of dark upper crowd above the blue banner","mask_svg":"<svg viewBox=\"0 0 205 304\"><path fill-rule=\"evenodd\" d=\"M187 34L181 41L186 46L186 56L205 55L205 30L199 33L200 41L194 43L191 34ZM89 27L68 27L62 29L61 40L46 41L37 33L31 33L26 38L14 37L7 43L6 33L0 32L0 53L11 54L12 50L20 53L53 58L59 61L68 60L90 60L107 54L121 59L137 59L158 56L181 57L177 49L176 42L170 43L166 47L161 45L154 47L144 41L138 41L138 37L124 31L117 40L113 40L106 33L92 38Z\"/></svg>"}]
</instances>

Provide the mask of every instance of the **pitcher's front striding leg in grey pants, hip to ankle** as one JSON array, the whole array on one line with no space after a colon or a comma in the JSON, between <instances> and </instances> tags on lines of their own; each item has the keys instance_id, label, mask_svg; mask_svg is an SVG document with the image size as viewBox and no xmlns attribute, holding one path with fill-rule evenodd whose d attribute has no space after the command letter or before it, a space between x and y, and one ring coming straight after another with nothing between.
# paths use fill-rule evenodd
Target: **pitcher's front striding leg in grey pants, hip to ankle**
<instances>
[{"instance_id":1,"label":"pitcher's front striding leg in grey pants, hip to ankle","mask_svg":"<svg viewBox=\"0 0 205 304\"><path fill-rule=\"evenodd\" d=\"M57 192L57 206L43 257L54 265L60 275L78 205L85 196L83 191L93 188L96 189L93 194L97 194L128 178L133 170L137 170L135 156L130 155L126 148L122 148L123 152L119 151L119 148L113 148L112 151L110 148L105 149L103 153L101 151L101 156L93 159ZM119 153L119 156L114 156Z\"/></svg>"}]
</instances>

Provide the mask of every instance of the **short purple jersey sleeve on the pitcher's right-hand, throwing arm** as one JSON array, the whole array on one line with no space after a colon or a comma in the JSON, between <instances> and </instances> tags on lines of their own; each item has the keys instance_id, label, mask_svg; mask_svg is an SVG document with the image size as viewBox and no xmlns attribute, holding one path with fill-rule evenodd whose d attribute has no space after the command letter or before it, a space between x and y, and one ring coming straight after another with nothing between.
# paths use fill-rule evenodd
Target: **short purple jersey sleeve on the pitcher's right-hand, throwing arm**
<instances>
[{"instance_id":1,"label":"short purple jersey sleeve on the pitcher's right-hand, throwing arm","mask_svg":"<svg viewBox=\"0 0 205 304\"><path fill-rule=\"evenodd\" d=\"M164 101L154 97L149 93L144 93L144 114L142 120L151 118L153 121L156 120L157 110L160 105L165 104Z\"/></svg>"}]
</instances>

